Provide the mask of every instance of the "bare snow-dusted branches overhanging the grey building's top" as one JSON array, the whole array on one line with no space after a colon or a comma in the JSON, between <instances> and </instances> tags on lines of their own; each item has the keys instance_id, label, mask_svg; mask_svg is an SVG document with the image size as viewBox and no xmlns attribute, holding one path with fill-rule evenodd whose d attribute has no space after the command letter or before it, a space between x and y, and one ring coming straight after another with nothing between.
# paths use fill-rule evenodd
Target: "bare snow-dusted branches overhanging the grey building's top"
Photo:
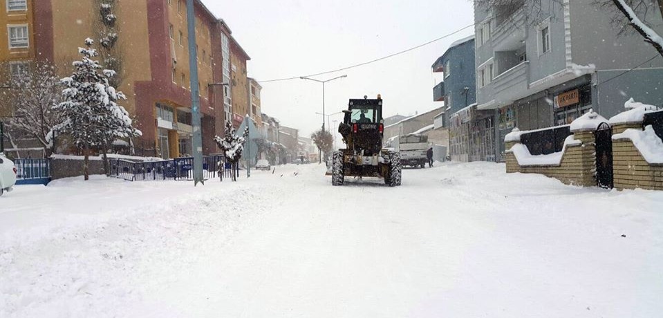
<instances>
[{"instance_id":1,"label":"bare snow-dusted branches overhanging the grey building's top","mask_svg":"<svg viewBox=\"0 0 663 318\"><path fill-rule=\"evenodd\" d=\"M528 23L538 24L541 19L548 17L556 7L566 6L567 0L474 0L476 6L484 10L492 10L497 21L512 21L514 13L525 10ZM620 30L630 27L651 44L663 56L663 37L651 26L648 21L657 21L654 15L663 16L663 0L595 0L592 4L613 12L613 24Z\"/></svg>"}]
</instances>

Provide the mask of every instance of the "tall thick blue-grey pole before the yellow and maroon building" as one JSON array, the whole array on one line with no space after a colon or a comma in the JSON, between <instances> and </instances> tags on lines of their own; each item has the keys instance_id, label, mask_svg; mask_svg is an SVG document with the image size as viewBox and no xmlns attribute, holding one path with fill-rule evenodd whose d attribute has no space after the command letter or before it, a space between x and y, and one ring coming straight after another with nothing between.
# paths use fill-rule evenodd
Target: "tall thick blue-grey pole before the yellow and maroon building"
<instances>
[{"instance_id":1,"label":"tall thick blue-grey pole before the yellow and maroon building","mask_svg":"<svg viewBox=\"0 0 663 318\"><path fill-rule=\"evenodd\" d=\"M191 113L194 136L194 187L203 179L203 133L200 131L200 87L198 87L198 55L196 52L196 15L194 0L187 0L187 26L189 29L189 72L191 73Z\"/></svg>"}]
</instances>

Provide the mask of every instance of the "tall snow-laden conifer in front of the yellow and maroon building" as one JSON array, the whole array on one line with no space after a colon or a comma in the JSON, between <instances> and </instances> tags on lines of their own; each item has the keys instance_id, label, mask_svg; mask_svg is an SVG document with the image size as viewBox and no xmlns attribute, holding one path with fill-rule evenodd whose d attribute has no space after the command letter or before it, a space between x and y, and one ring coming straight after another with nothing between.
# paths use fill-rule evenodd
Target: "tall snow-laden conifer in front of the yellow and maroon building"
<instances>
[{"instance_id":1,"label":"tall snow-laden conifer in front of the yellow and maroon building","mask_svg":"<svg viewBox=\"0 0 663 318\"><path fill-rule=\"evenodd\" d=\"M86 48L78 49L82 60L73 63L74 73L61 79L66 86L62 91L64 102L55 106L55 110L62 113L64 121L55 129L69 135L73 143L83 150L83 174L88 180L92 147L103 147L117 138L131 138L141 133L133 128L129 113L117 104L127 97L109 84L109 78L115 75L115 71L99 72L102 67L93 59L97 57L97 50L91 48L94 41L88 38L85 44ZM107 162L106 156L104 161Z\"/></svg>"}]
</instances>

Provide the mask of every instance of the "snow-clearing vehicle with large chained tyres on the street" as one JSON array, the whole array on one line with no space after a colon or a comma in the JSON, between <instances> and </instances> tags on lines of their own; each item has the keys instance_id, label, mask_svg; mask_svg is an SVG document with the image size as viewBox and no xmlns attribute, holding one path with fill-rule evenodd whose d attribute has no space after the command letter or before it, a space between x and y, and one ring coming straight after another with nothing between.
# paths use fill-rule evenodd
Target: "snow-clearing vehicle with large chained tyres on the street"
<instances>
[{"instance_id":1,"label":"snow-clearing vehicle with large chained tyres on the street","mask_svg":"<svg viewBox=\"0 0 663 318\"><path fill-rule=\"evenodd\" d=\"M390 187L401 184L400 153L382 148L384 120L382 98L350 100L345 118L339 124L346 149L335 151L332 158L332 185L343 185L346 177L384 179Z\"/></svg>"}]
</instances>

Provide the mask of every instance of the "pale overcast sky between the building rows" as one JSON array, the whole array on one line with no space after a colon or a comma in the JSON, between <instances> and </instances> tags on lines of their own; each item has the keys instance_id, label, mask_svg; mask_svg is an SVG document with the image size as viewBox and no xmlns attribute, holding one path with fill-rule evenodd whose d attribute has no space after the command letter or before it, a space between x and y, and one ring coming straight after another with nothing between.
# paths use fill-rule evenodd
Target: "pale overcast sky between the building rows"
<instances>
[{"instance_id":1,"label":"pale overcast sky between the building rows","mask_svg":"<svg viewBox=\"0 0 663 318\"><path fill-rule=\"evenodd\" d=\"M250 77L261 80L330 71L418 46L474 22L469 0L203 0L224 19L252 60ZM349 98L384 99L385 117L411 115L441 106L432 89L442 76L431 65L451 42L472 28L418 50L368 66L321 75L326 113L346 109ZM263 83L261 106L281 124L310 135L320 129L322 86L296 79ZM335 115L331 120L342 120Z\"/></svg>"}]
</instances>

